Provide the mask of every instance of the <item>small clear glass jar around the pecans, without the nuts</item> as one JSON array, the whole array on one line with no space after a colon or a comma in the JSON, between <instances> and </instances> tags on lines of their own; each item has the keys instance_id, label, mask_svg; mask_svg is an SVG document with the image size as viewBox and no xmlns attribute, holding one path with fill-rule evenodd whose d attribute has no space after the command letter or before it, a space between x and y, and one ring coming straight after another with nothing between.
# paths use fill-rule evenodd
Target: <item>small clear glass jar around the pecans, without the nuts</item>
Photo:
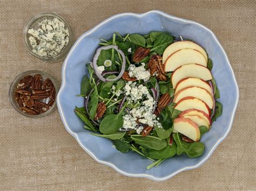
<instances>
[{"instance_id":1,"label":"small clear glass jar around the pecans, without the nuts","mask_svg":"<svg viewBox=\"0 0 256 191\"><path fill-rule=\"evenodd\" d=\"M16 92L16 89L17 89L19 81L21 81L27 75L34 76L36 74L41 74L42 81L44 81L47 78L49 78L52 81L53 86L55 87L55 91L56 91L56 93L55 93L55 100L54 100L54 103L52 104L51 108L49 110L45 111L43 114L29 115L29 114L26 114L25 112L23 112L21 110L21 108L19 107L18 102L15 99L15 92ZM46 115L52 114L52 112L56 110L56 108L57 108L56 97L57 97L58 90L59 90L58 83L57 83L57 81L55 79L53 79L53 77L50 74L42 72L42 71L39 71L39 70L28 70L26 72L23 72L23 73L19 74L17 77L15 77L14 81L12 81L10 89L9 89L9 100L11 102L12 107L14 107L14 109L16 111L18 111L20 114L22 114L22 115L24 115L26 117L30 117L30 118L44 117ZM46 104L48 104L48 102L50 101L50 98L45 98L45 99L43 99L41 101L46 103Z\"/></svg>"}]
</instances>

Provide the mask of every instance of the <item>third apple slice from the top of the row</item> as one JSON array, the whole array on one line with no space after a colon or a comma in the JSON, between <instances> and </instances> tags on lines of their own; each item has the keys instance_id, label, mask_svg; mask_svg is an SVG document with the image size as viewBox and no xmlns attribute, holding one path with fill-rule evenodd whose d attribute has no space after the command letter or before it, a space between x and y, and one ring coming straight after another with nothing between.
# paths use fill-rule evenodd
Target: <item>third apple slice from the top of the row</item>
<instances>
[{"instance_id":1,"label":"third apple slice from the top of the row","mask_svg":"<svg viewBox=\"0 0 256 191\"><path fill-rule=\"evenodd\" d=\"M173 88L176 88L177 83L186 77L198 77L205 81L212 80L212 74L208 68L197 63L191 63L190 65L183 65L174 70L172 73Z\"/></svg>"}]
</instances>

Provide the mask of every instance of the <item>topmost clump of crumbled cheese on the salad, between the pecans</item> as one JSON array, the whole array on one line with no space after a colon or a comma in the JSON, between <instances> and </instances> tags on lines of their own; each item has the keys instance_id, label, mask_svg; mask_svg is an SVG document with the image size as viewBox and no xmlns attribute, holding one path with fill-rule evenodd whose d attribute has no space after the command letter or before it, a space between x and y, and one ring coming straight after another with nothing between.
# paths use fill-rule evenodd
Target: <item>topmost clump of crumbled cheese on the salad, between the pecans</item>
<instances>
[{"instance_id":1,"label":"topmost clump of crumbled cheese on the salad, between the pecans","mask_svg":"<svg viewBox=\"0 0 256 191\"><path fill-rule=\"evenodd\" d=\"M135 65L130 65L128 68L129 76L136 77L137 80L147 81L150 79L150 72L145 69L145 63L142 63L141 66L136 67Z\"/></svg>"}]
</instances>

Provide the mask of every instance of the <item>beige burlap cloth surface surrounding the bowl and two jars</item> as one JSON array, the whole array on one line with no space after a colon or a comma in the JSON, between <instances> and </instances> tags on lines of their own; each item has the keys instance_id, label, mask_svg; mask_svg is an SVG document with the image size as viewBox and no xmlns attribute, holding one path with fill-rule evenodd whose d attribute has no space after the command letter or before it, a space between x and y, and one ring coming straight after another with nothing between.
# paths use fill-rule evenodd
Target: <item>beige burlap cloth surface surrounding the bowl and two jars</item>
<instances>
[{"instance_id":1,"label":"beige burlap cloth surface surrounding the bowl and two jars","mask_svg":"<svg viewBox=\"0 0 256 191\"><path fill-rule=\"evenodd\" d=\"M11 81L25 70L43 70L61 82L62 62L45 63L23 46L22 30L33 15L58 13L78 38L116 13L153 9L209 27L223 45L240 89L232 130L211 158L164 182L129 178L98 164L66 132L57 111L29 119L19 115L8 100ZM0 189L256 189L255 12L255 0L0 0Z\"/></svg>"}]
</instances>

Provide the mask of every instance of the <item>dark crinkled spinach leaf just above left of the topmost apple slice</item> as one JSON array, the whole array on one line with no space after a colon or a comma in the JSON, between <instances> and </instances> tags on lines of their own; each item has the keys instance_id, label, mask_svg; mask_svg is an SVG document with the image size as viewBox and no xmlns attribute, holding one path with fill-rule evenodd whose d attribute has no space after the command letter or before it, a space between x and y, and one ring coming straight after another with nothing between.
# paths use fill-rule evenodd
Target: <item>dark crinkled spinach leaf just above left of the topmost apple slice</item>
<instances>
[{"instance_id":1,"label":"dark crinkled spinach leaf just above left of the topmost apple slice","mask_svg":"<svg viewBox=\"0 0 256 191\"><path fill-rule=\"evenodd\" d=\"M154 46L151 49L152 51L156 51L158 54L163 54L165 48L173 43L173 37L168 34L160 34L160 36L154 42Z\"/></svg>"}]
</instances>

